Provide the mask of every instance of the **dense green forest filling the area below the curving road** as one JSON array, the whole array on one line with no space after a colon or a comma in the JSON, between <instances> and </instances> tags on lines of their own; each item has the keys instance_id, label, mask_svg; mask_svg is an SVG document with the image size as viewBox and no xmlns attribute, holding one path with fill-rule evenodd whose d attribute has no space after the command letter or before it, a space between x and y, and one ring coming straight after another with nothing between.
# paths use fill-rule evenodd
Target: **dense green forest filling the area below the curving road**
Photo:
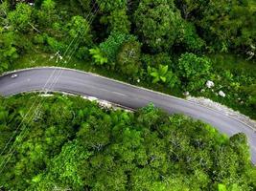
<instances>
[{"instance_id":1,"label":"dense green forest filling the area below the curving road","mask_svg":"<svg viewBox=\"0 0 256 191\"><path fill-rule=\"evenodd\" d=\"M227 138L151 104L130 113L77 96L44 97L29 112L37 99L0 98L0 190L256 189L244 134Z\"/></svg>"}]
</instances>

